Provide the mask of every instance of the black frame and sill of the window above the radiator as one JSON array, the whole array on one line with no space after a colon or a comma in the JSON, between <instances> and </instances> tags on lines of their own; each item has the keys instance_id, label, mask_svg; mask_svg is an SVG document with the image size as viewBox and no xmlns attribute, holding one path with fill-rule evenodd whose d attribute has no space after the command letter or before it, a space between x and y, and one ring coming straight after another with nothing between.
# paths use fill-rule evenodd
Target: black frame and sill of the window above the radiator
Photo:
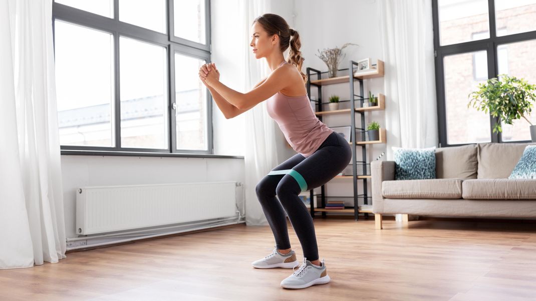
<instances>
[{"instance_id":1,"label":"black frame and sill of the window above the radiator","mask_svg":"<svg viewBox=\"0 0 536 301\"><path fill-rule=\"evenodd\" d=\"M207 149L206 150L181 150L177 149L176 141L176 118L175 109L175 53L180 55L198 58L211 62L211 27L210 27L210 0L205 1L205 35L206 44L197 43L176 37L174 34L174 0L166 0L167 33L155 32L154 30L132 25L119 20L119 0L114 1L114 16L108 18L53 2L52 25L53 39L55 47L55 22L56 20L69 22L74 25L109 33L114 38L114 122L115 146L86 146L86 145L61 145L62 155L113 155L113 156L166 156L185 155L186 157L232 157L241 156L218 156L214 154L213 148L213 122L212 122L212 96L206 89L206 119L207 119ZM160 45L167 50L167 92L168 92L168 148L167 149L147 149L147 148L122 148L121 147L121 99L120 99L120 36L133 38L138 41ZM212 156L207 156L212 155ZM180 156L182 157L182 156Z\"/></svg>"}]
</instances>

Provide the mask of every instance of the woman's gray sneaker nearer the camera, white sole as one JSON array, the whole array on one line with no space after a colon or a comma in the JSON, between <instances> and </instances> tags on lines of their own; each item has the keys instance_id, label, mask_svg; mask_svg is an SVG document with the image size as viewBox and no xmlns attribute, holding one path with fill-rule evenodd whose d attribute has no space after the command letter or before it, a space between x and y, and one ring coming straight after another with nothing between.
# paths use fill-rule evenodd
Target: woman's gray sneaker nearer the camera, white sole
<instances>
[{"instance_id":1,"label":"woman's gray sneaker nearer the camera, white sole","mask_svg":"<svg viewBox=\"0 0 536 301\"><path fill-rule=\"evenodd\" d=\"M292 275L281 281L281 287L286 289L304 289L315 284L326 284L330 282L330 276L327 275L324 259L322 266L316 267L311 261L303 258L303 264Z\"/></svg>"}]
</instances>

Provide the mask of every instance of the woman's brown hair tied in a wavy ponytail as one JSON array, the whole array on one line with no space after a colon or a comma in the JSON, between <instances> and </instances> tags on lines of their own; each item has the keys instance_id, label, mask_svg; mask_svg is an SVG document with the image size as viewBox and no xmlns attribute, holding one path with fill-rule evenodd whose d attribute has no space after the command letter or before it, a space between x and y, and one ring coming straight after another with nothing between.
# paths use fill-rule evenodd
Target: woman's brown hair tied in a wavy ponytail
<instances>
[{"instance_id":1,"label":"woman's brown hair tied in a wavy ponytail","mask_svg":"<svg viewBox=\"0 0 536 301\"><path fill-rule=\"evenodd\" d=\"M301 56L301 42L298 32L290 28L285 19L273 13L265 13L262 16L257 17L253 23L255 24L255 22L258 22L260 25L262 25L269 36L279 36L281 52L287 50L289 46L291 47L291 50L288 53L287 62L296 66L297 70L300 71L303 82L307 82L307 75L301 71L303 61L305 59Z\"/></svg>"}]
</instances>

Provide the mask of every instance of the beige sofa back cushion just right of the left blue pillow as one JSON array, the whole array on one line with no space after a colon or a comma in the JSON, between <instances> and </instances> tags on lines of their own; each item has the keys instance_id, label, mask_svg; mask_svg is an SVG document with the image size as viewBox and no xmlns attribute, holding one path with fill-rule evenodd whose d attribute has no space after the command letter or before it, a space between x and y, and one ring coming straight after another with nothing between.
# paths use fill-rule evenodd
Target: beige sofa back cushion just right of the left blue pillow
<instances>
[{"instance_id":1,"label":"beige sofa back cushion just right of the left blue pillow","mask_svg":"<svg viewBox=\"0 0 536 301\"><path fill-rule=\"evenodd\" d=\"M436 179L477 179L477 144L438 148Z\"/></svg>"}]
</instances>

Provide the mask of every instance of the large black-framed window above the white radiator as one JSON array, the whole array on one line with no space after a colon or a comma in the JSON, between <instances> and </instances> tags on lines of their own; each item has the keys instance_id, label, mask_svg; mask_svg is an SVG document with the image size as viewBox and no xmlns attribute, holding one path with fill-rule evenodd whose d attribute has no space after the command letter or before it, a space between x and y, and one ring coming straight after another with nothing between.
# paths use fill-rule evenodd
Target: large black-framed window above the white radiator
<instances>
[{"instance_id":1,"label":"large black-framed window above the white radiator","mask_svg":"<svg viewBox=\"0 0 536 301\"><path fill-rule=\"evenodd\" d=\"M55 0L62 150L212 153L209 0Z\"/></svg>"}]
</instances>

